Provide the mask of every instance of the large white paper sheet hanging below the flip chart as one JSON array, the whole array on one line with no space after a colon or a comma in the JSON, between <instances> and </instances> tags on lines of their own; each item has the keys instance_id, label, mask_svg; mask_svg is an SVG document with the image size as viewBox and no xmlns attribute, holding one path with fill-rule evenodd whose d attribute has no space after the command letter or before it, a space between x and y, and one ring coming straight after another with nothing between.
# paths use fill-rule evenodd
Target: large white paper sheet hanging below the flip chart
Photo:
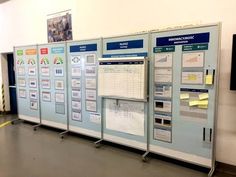
<instances>
[{"instance_id":1,"label":"large white paper sheet hanging below the flip chart","mask_svg":"<svg viewBox=\"0 0 236 177\"><path fill-rule=\"evenodd\" d=\"M144 136L144 103L106 99L105 116L107 129Z\"/></svg>"}]
</instances>

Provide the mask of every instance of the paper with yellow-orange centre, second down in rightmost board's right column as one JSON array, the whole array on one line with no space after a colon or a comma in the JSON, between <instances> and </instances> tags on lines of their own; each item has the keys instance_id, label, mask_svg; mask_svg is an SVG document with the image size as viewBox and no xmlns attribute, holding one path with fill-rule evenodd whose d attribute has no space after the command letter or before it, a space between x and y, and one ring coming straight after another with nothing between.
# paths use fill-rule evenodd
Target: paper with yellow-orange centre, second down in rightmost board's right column
<instances>
[{"instance_id":1,"label":"paper with yellow-orange centre, second down in rightmost board's right column","mask_svg":"<svg viewBox=\"0 0 236 177\"><path fill-rule=\"evenodd\" d=\"M203 84L203 72L182 72L182 84Z\"/></svg>"}]
</instances>

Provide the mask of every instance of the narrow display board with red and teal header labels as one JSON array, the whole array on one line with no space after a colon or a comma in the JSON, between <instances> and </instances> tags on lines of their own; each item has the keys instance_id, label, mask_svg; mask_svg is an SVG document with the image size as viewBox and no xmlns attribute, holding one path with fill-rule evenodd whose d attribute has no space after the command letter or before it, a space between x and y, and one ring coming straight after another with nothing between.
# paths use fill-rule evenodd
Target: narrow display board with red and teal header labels
<instances>
[{"instance_id":1,"label":"narrow display board with red and teal header labels","mask_svg":"<svg viewBox=\"0 0 236 177\"><path fill-rule=\"evenodd\" d=\"M67 65L65 43L38 46L43 125L67 129Z\"/></svg>"}]
</instances>

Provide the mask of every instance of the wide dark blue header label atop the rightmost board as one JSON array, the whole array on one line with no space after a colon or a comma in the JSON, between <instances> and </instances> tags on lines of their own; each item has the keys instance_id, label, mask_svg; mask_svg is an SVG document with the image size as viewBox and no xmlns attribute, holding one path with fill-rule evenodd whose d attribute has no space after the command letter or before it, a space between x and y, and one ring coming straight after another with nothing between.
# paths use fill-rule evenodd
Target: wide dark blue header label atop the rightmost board
<instances>
[{"instance_id":1,"label":"wide dark blue header label atop the rightmost board","mask_svg":"<svg viewBox=\"0 0 236 177\"><path fill-rule=\"evenodd\" d=\"M187 34L156 38L156 46L209 43L210 33Z\"/></svg>"}]
</instances>

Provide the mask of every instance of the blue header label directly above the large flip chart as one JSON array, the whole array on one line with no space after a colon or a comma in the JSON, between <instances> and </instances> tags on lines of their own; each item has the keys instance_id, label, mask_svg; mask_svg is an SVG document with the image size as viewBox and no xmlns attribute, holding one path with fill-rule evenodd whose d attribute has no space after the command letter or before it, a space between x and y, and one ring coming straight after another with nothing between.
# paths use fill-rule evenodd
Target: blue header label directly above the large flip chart
<instances>
[{"instance_id":1,"label":"blue header label directly above the large flip chart","mask_svg":"<svg viewBox=\"0 0 236 177\"><path fill-rule=\"evenodd\" d=\"M124 50L139 48L143 48L143 39L107 43L107 50Z\"/></svg>"}]
</instances>

